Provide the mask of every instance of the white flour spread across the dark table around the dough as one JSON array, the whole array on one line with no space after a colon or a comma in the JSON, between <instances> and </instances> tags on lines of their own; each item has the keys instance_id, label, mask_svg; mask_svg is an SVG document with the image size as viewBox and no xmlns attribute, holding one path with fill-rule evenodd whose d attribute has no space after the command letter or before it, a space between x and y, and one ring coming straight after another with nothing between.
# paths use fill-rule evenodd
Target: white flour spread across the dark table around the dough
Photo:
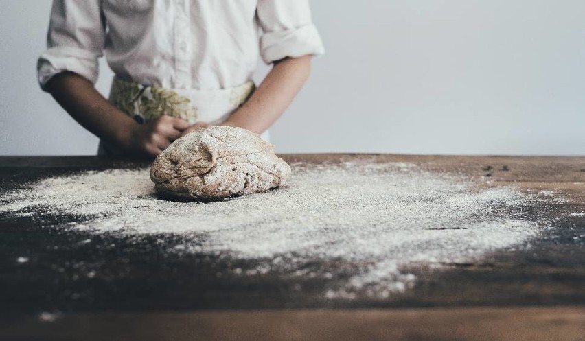
<instances>
[{"instance_id":1,"label":"white flour spread across the dark table around the dough","mask_svg":"<svg viewBox=\"0 0 585 341\"><path fill-rule=\"evenodd\" d=\"M292 165L288 185L221 202L158 199L148 169L47 178L9 193L0 213L89 216L75 226L95 233L189 235L169 252L256 259L242 276L336 277L310 261L341 261L355 271L328 287L328 298L385 297L415 283L404 269L469 262L538 233L519 211L527 198L455 174L406 163ZM305 270L303 270L305 269Z\"/></svg>"}]
</instances>

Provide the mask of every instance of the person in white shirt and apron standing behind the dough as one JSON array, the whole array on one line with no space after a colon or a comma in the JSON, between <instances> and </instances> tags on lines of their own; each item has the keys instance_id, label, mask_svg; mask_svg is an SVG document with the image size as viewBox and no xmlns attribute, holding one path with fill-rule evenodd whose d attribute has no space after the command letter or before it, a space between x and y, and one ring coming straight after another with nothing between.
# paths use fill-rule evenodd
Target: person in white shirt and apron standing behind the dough
<instances>
[{"instance_id":1,"label":"person in white shirt and apron standing behind the dough","mask_svg":"<svg viewBox=\"0 0 585 341\"><path fill-rule=\"evenodd\" d=\"M102 54L108 99L94 87ZM54 0L37 70L98 154L154 158L210 125L268 139L321 54L308 0ZM273 67L256 89L260 56Z\"/></svg>"}]
</instances>

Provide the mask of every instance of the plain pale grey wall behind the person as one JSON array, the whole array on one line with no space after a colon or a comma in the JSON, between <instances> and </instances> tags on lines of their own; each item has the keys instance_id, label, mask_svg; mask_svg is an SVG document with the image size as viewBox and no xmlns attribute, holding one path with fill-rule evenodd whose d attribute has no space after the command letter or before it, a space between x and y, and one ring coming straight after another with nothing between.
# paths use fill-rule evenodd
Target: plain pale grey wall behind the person
<instances>
[{"instance_id":1,"label":"plain pale grey wall behind the person","mask_svg":"<svg viewBox=\"0 0 585 341\"><path fill-rule=\"evenodd\" d=\"M49 0L0 0L0 154L95 154L36 84ZM585 1L312 1L326 54L278 152L585 154ZM112 73L102 62L98 89ZM266 72L260 65L258 78Z\"/></svg>"}]
</instances>

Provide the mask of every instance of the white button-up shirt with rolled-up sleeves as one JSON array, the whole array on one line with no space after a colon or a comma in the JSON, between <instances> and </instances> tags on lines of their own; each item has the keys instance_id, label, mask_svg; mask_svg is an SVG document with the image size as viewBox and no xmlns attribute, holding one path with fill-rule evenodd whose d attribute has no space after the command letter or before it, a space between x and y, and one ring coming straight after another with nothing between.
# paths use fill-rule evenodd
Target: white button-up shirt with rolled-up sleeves
<instances>
[{"instance_id":1,"label":"white button-up shirt with rolled-up sleeves","mask_svg":"<svg viewBox=\"0 0 585 341\"><path fill-rule=\"evenodd\" d=\"M54 0L41 87L57 73L98 79L98 58L124 80L225 89L266 63L323 54L308 0Z\"/></svg>"}]
</instances>

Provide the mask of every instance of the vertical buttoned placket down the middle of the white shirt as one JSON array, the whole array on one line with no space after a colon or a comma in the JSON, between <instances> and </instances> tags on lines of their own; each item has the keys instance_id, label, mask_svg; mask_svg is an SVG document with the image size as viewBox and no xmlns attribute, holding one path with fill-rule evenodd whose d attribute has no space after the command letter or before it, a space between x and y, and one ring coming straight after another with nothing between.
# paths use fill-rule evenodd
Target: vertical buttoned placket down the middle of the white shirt
<instances>
[{"instance_id":1,"label":"vertical buttoned placket down the middle of the white shirt","mask_svg":"<svg viewBox=\"0 0 585 341\"><path fill-rule=\"evenodd\" d=\"M190 0L174 0L176 11L174 18L174 60L175 87L191 88L191 15Z\"/></svg>"}]
</instances>

